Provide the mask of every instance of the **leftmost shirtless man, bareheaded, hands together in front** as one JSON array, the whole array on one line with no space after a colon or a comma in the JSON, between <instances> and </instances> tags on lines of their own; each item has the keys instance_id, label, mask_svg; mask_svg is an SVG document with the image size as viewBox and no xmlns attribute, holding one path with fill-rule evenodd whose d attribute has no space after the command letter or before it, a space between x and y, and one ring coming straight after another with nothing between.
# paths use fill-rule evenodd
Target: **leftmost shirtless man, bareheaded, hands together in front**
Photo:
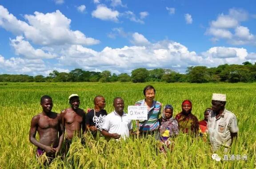
<instances>
[{"instance_id":1,"label":"leftmost shirtless man, bareheaded, hands together in front","mask_svg":"<svg viewBox=\"0 0 256 169\"><path fill-rule=\"evenodd\" d=\"M52 112L52 98L44 95L40 102L43 111L31 120L29 140L36 145L36 156L46 153L47 157L55 157L60 152L64 139L64 127L61 123L60 114ZM36 140L36 131L39 141Z\"/></svg>"}]
</instances>

